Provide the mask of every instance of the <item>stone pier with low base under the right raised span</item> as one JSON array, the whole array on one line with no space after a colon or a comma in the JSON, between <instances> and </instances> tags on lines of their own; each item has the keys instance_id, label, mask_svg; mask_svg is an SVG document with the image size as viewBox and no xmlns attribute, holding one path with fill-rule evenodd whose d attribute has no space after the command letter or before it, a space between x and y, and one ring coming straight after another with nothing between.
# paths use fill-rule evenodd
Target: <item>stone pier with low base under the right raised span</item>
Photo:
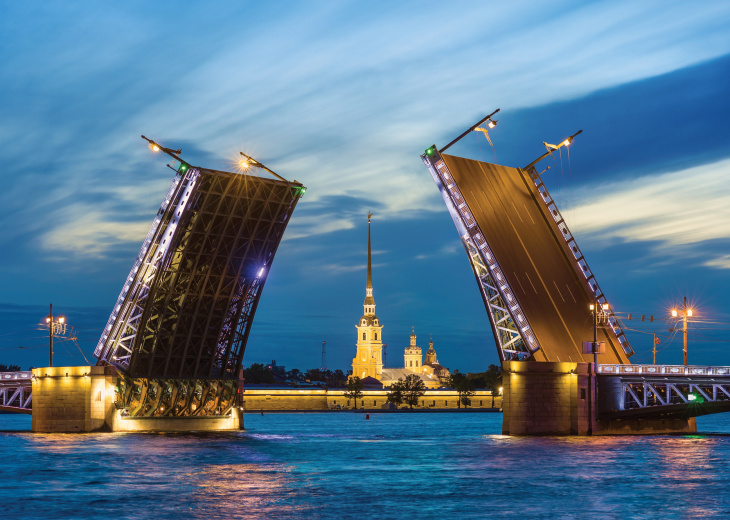
<instances>
[{"instance_id":1,"label":"stone pier with low base under the right raised span","mask_svg":"<svg viewBox=\"0 0 730 520\"><path fill-rule=\"evenodd\" d=\"M694 433L691 419L597 419L591 363L504 361L504 435ZM599 396L600 397L600 396Z\"/></svg>"}]
</instances>

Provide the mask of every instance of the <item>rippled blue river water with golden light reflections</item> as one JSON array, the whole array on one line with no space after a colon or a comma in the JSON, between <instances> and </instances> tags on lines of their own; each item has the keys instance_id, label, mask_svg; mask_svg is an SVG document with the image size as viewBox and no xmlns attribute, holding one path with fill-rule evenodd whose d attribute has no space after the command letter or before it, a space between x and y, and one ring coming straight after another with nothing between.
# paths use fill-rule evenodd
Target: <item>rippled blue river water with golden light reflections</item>
<instances>
[{"instance_id":1,"label":"rippled blue river water with golden light reflections","mask_svg":"<svg viewBox=\"0 0 730 520\"><path fill-rule=\"evenodd\" d=\"M0 517L730 517L730 414L674 437L504 437L501 421L272 413L235 433L41 435L0 415Z\"/></svg>"}]
</instances>

